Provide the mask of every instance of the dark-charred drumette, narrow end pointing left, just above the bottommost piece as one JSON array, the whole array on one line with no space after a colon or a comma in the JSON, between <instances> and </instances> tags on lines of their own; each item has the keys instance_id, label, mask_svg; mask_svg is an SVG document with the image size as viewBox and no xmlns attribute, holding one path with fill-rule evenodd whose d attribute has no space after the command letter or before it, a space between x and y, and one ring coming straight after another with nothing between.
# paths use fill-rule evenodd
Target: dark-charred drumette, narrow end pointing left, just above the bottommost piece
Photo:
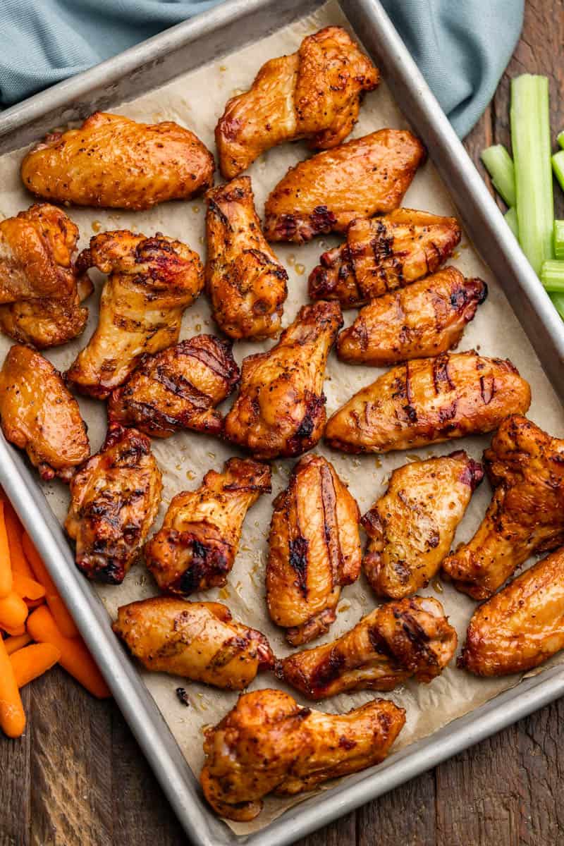
<instances>
[{"instance_id":1,"label":"dark-charred drumette, narrow end pointing left, just above the bottommost piece","mask_svg":"<svg viewBox=\"0 0 564 846\"><path fill-rule=\"evenodd\" d=\"M338 640L277 662L276 672L308 699L349 690L393 690L414 676L430 682L457 648L441 602L414 596L386 602Z\"/></svg>"}]
</instances>

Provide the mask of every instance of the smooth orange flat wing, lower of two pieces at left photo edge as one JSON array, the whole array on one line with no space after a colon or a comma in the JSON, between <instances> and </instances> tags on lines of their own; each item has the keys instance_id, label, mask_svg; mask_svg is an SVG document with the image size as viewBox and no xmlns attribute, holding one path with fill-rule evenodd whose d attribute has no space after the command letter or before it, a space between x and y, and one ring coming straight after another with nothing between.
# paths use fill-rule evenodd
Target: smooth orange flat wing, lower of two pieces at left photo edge
<instances>
[{"instance_id":1,"label":"smooth orange flat wing, lower of two pieces at left photo edge","mask_svg":"<svg viewBox=\"0 0 564 846\"><path fill-rule=\"evenodd\" d=\"M4 437L25 449L46 481L70 481L90 455L79 404L51 362L29 347L12 347L4 360L0 420Z\"/></svg>"}]
</instances>

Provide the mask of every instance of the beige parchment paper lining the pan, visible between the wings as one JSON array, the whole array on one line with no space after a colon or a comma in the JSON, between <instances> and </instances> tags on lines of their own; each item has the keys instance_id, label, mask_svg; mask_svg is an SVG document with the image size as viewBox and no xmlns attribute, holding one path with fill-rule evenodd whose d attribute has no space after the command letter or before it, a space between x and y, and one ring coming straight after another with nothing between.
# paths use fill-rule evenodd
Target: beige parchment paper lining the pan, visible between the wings
<instances>
[{"instance_id":1,"label":"beige parchment paper lining the pan, visible between the wings","mask_svg":"<svg viewBox=\"0 0 564 846\"><path fill-rule=\"evenodd\" d=\"M305 35L318 30L320 26L343 22L342 12L337 5L327 4L298 24L287 27L252 47L191 74L186 74L159 91L151 92L149 95L140 97L136 102L118 107L115 110L145 121L177 120L178 123L193 129L204 140L205 144L213 149L213 129L216 119L222 113L225 101L236 91L248 87L260 64L266 58L281 55L283 52L293 52ZM359 124L355 127L353 136L365 135L384 126L399 128L406 127L408 124L398 113L386 86L382 84L377 91L366 97L360 113ZM302 143L285 145L269 151L249 169L259 211L262 211L266 195L286 172L287 168L306 155L308 155L308 151ZM0 160L0 174L4 188L2 201L0 201L0 211L7 217L27 207L31 201L30 196L25 194L19 184L18 164L21 156L21 152L15 152ZM430 163L416 176L406 195L404 205L441 214L455 213L452 203L442 189ZM77 209L71 210L70 214L74 221L79 224L81 247L85 246L91 234L97 231L127 227L136 228L147 235L161 230L183 239L195 250L200 251L202 256L205 254L205 206L202 200L167 204L158 206L150 212L136 214ZM311 268L317 264L320 252L337 243L337 239L316 239L313 244L302 247L275 245L277 255L287 266L290 276L290 294L285 306L284 325L292 321L299 306L307 301L307 277ZM467 239L463 239L463 243L452 263L467 275L478 275L485 278L490 288L490 296L485 305L479 308L477 317L468 327L460 349L475 347L483 354L510 357L522 375L533 386L533 404L529 416L548 431L560 435L564 430L564 415L556 394L541 370L539 361L536 359L533 349L513 316L509 305L507 305L507 300L501 293L501 289L479 261ZM96 277L96 294L88 304L91 312L90 323L82 342L79 340L79 342L68 344L63 349L54 349L47 352L47 357L62 370L74 359L76 351L84 345L86 338L89 337L90 332L96 325L95 306L103 277L95 273L92 275ZM346 322L351 322L355 315L355 311L346 312ZM199 332L214 331L205 299L200 297L184 316L181 337L189 338ZM9 345L8 339L2 338L0 355L5 354ZM260 349L268 349L270 346L271 343L238 343L235 346L234 353L240 362L244 355ZM331 414L359 387L372 382L380 372L375 368L342 365L337 362L335 355L331 354L327 367L325 388L328 414ZM106 426L104 407L102 404L90 400L80 399L79 402L85 420L89 424L90 442L94 451L99 447L104 437ZM474 458L479 458L487 442L488 439L486 438L465 438L457 441L454 446L451 443L446 443L437 445L435 448L414 450L413 453L408 453L407 459L445 454L458 446L466 448ZM153 445L156 459L163 470L165 485L161 514L157 518L156 526L160 525L167 503L170 502L175 493L187 488L197 487L206 470L211 467L220 470L225 459L237 453L235 449L229 448L216 439L189 432L175 435L167 441L155 441ZM362 512L369 508L375 498L381 496L384 492L390 471L406 460L406 453L357 458L332 453L326 450L323 445L320 445L317 451L325 454L333 462L342 479L348 481ZM271 518L271 500L282 487L286 486L292 464L291 461L281 460L273 463L272 494L262 497L259 503L249 511L238 558L227 587L219 591L206 591L205 595L194 595L192 597L194 599L218 599L226 602L236 618L263 630L269 636L271 645L279 656L286 655L288 649L282 630L275 629L271 625L266 613L264 601L266 536ZM53 511L60 519L63 519L68 504L67 489L59 483L54 483L44 486L44 490ZM484 483L474 495L467 515L459 527L456 542L466 540L473 534L484 513L489 497L489 489ZM124 585L103 587L99 590L102 601L112 617L115 616L118 605L139 599L142 596L150 596L154 592L151 576L146 572L143 564L139 564L132 569ZM437 596L443 602L446 613L449 614L452 624L457 628L462 645L468 619L475 607L474 602L468 597L452 591L449 585L445 585L438 580L422 592ZM356 585L345 588L342 591L339 604L340 613L337 615L336 623L331 627L331 632L326 638L320 639L316 643L332 640L338 634L342 634L343 631L353 626L364 613L372 610L375 604L370 588L363 578ZM204 685L187 683L185 680L179 682L178 679L162 675L145 673L144 678L190 766L198 774L203 760L201 727L220 719L233 706L237 695L206 688ZM430 685L406 684L402 689L397 689L392 695L389 695L398 704L406 707L408 716L406 727L403 729L395 748L399 749L414 739L432 733L455 717L462 716L489 700L502 689L507 689L516 681L516 678L498 681L480 680L451 667L443 673L441 678L435 679ZM189 691L189 708L178 703L174 693L178 684L182 684ZM260 676L252 685L253 688L266 686L283 687L268 673ZM347 711L351 707L369 700L372 696L368 693L341 695L321 702L317 707L327 711ZM296 698L299 700L299 696L296 696ZM275 816L278 816L288 805L295 804L298 800L268 799L265 811L254 823L230 823L230 825L238 833L257 830Z\"/></svg>"}]
</instances>

